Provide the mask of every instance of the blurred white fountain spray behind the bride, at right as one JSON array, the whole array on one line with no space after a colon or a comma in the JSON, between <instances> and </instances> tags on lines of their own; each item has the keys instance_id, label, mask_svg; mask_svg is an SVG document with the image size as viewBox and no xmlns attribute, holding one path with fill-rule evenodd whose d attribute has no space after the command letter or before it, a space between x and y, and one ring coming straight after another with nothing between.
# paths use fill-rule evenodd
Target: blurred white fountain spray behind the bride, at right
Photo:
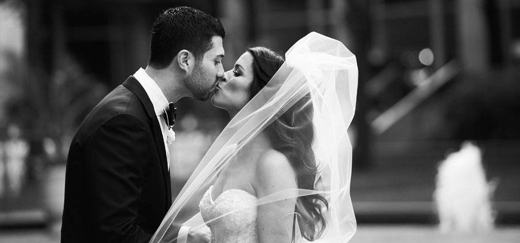
<instances>
[{"instance_id":1,"label":"blurred white fountain spray behind the bride, at right","mask_svg":"<svg viewBox=\"0 0 520 243\"><path fill-rule=\"evenodd\" d=\"M465 142L441 162L434 199L440 231L482 232L493 228L491 195L496 183L486 181L482 152Z\"/></svg>"}]
</instances>

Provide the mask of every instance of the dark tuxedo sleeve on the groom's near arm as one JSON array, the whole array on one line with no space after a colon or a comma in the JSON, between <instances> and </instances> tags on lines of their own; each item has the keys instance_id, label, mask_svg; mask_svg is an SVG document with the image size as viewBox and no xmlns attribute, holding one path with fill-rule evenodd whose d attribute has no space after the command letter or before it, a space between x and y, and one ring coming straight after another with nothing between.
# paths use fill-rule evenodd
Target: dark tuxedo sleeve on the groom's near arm
<instances>
[{"instance_id":1,"label":"dark tuxedo sleeve on the groom's near arm","mask_svg":"<svg viewBox=\"0 0 520 243\"><path fill-rule=\"evenodd\" d=\"M118 114L99 126L88 142L89 203L96 242L148 242L137 225L144 170L155 150L150 127L132 114Z\"/></svg>"}]
</instances>

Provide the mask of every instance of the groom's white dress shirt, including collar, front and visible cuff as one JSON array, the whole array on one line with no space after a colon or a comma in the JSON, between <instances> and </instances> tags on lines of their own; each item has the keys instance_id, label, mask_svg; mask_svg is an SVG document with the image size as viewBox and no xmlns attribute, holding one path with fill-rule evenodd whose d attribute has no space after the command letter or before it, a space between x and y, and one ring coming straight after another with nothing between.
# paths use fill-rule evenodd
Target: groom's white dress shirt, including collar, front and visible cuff
<instances>
[{"instance_id":1,"label":"groom's white dress shirt, including collar, front and visible cuff","mask_svg":"<svg viewBox=\"0 0 520 243\"><path fill-rule=\"evenodd\" d=\"M157 83L153 81L152 78L145 72L144 69L139 68L137 72L134 73L134 78L139 81L141 86L145 89L146 94L152 101L153 110L155 111L155 116L157 116L157 120L159 121L159 125L161 126L164 148L166 149L166 161L168 163L168 171L170 171L170 151L168 151L168 144L166 143L168 137L168 127L166 125L166 121L164 120L162 114L163 109L168 108L168 100L164 96L161 91L161 88L157 86ZM188 231L189 227L181 226L179 230L179 235L177 237L177 243L186 243L188 240Z\"/></svg>"}]
</instances>

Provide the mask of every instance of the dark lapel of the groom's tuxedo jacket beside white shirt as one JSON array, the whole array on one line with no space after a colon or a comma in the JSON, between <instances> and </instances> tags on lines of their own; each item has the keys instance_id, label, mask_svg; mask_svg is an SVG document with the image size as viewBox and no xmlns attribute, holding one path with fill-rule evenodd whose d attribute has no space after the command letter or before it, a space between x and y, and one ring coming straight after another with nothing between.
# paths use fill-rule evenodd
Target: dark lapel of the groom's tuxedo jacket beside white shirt
<instances>
[{"instance_id":1,"label":"dark lapel of the groom's tuxedo jacket beside white shirt","mask_svg":"<svg viewBox=\"0 0 520 243\"><path fill-rule=\"evenodd\" d=\"M153 134L153 139L155 141L155 147L157 147L157 150L160 155L161 163L161 169L163 172L163 176L165 178L166 183L166 203L167 208L170 208L170 204L172 204L172 186L170 183L170 172L168 171L168 164L166 161L166 148L164 147L164 140L162 136L162 130L161 126L159 125L159 121L157 119L157 116L155 116L155 111L153 109L153 104L150 98L148 97L148 94L146 93L145 89L141 86L139 81L134 78L134 76L129 76L128 79L123 83L123 86L128 88L130 91L132 91L141 101L142 105L146 109L146 113L148 114L149 118L151 119L151 129Z\"/></svg>"}]
</instances>

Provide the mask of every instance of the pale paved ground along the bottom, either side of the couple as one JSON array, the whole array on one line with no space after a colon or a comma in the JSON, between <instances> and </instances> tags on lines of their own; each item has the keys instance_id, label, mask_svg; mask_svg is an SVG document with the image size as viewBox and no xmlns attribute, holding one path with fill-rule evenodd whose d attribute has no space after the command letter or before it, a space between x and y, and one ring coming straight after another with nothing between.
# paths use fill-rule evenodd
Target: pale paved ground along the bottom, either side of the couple
<instances>
[{"instance_id":1,"label":"pale paved ground along the bottom, either side of the couple","mask_svg":"<svg viewBox=\"0 0 520 243\"><path fill-rule=\"evenodd\" d=\"M349 243L516 243L520 239L520 226L500 227L487 234L440 234L433 226L424 225L359 225ZM1 231L3 243L55 243L59 236L42 229Z\"/></svg>"}]
</instances>

